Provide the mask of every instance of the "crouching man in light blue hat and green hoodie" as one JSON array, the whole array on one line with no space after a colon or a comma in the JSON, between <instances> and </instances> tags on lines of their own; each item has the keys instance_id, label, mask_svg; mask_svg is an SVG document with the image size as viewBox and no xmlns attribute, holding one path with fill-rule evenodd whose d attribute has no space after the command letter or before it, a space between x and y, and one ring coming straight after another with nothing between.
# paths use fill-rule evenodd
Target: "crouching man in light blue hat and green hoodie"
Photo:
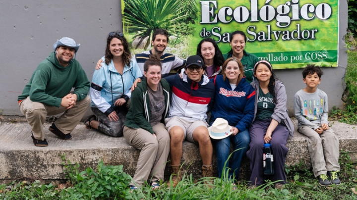
<instances>
[{"instance_id":1,"label":"crouching man in light blue hat and green hoodie","mask_svg":"<svg viewBox=\"0 0 357 200\"><path fill-rule=\"evenodd\" d=\"M79 46L71 38L57 40L53 46L54 52L38 65L17 98L20 111L31 126L31 138L37 147L48 146L43 129L47 115L64 112L49 130L62 140L70 140L70 133L90 105L87 96L90 82L79 62L74 59Z\"/></svg>"}]
</instances>

